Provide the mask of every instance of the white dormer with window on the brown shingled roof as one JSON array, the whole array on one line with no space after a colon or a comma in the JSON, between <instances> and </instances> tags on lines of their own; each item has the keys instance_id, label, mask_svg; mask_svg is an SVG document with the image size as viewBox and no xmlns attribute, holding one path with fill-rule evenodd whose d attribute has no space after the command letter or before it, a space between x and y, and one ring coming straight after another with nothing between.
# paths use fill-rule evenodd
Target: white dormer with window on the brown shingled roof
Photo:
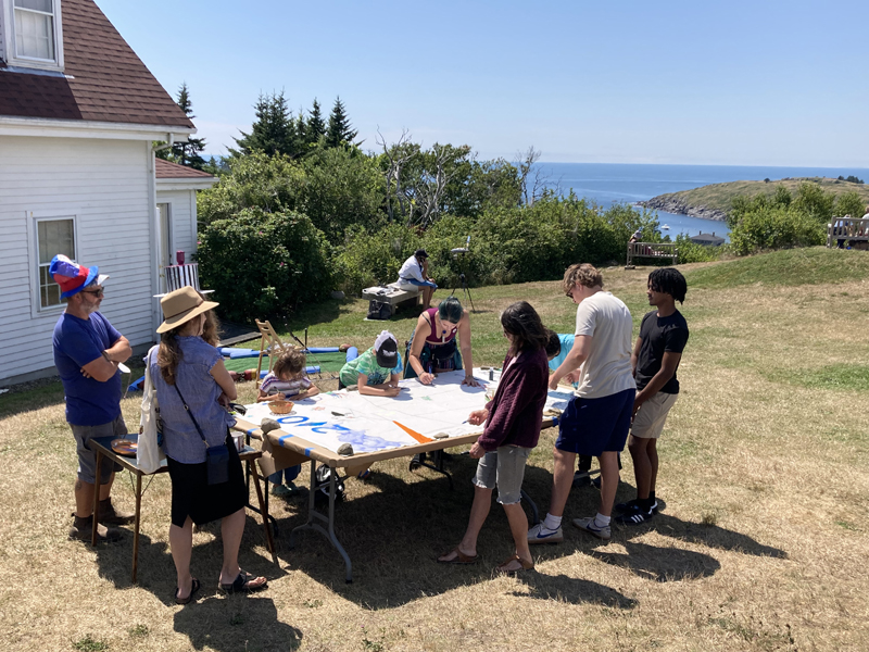
<instances>
[{"instance_id":1,"label":"white dormer with window on the brown shingled roof","mask_svg":"<svg viewBox=\"0 0 869 652\"><path fill-rule=\"evenodd\" d=\"M11 68L63 72L61 0L0 0L0 59Z\"/></svg>"}]
</instances>

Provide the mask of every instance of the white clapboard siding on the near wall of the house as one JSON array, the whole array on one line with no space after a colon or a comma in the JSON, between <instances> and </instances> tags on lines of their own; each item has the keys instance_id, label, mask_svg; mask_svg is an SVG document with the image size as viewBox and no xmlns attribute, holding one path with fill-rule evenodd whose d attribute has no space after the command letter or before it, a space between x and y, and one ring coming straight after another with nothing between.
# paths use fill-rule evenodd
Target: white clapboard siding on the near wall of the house
<instances>
[{"instance_id":1,"label":"white clapboard siding on the near wall of the house","mask_svg":"<svg viewBox=\"0 0 869 652\"><path fill-rule=\"evenodd\" d=\"M150 143L0 136L0 260L12 290L0 311L0 385L54 366L62 309L37 310L34 216L75 215L76 260L111 275L101 312L131 344L153 341Z\"/></svg>"}]
</instances>

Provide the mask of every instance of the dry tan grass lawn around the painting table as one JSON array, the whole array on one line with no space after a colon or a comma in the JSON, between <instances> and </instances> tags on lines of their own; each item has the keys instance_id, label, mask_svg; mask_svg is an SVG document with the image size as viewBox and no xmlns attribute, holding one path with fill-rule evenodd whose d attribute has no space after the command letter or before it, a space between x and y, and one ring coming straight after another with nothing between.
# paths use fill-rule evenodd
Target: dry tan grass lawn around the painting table
<instances>
[{"instance_id":1,"label":"dry tan grass lawn around the painting table","mask_svg":"<svg viewBox=\"0 0 869 652\"><path fill-rule=\"evenodd\" d=\"M869 253L848 254L869 262ZM714 265L732 264L740 261ZM176 606L168 477L154 478L144 494L139 584L131 585L129 532L97 549L66 538L75 453L56 384L7 394L0 403L3 647L869 649L869 280L789 286L768 279L697 289L690 285L696 267L684 267L683 313L692 335L679 372L683 391L659 444L657 493L666 506L647 526L614 528L609 544L568 525L565 543L536 549L537 572L518 579L492 574L512 552L498 505L480 539L480 564L433 561L464 531L474 461L454 459L456 488L449 491L443 478L428 469L410 473L407 461L396 460L377 465L366 482L348 480L349 500L338 506L354 584L344 584L339 555L319 535L305 532L289 549L304 505L273 500L279 566L252 513L241 552L248 570L268 577L268 590L218 594L219 528L209 526L194 535L202 597ZM647 309L647 272L605 272L608 289L638 323ZM709 269L703 274L708 280ZM474 292L482 311L473 317L477 364L500 363L498 311L513 300L530 300L561 331L572 326L575 309L556 283ZM363 311L362 302L349 301L323 323L312 322L312 341L370 346L380 325L360 322ZM392 327L403 338L412 321ZM252 397L250 385L243 391ZM130 427L138 424L139 400L123 403ZM544 431L526 475L541 512L555 435ZM626 453L619 500L633 497L632 486ZM117 478L114 494L133 506L127 477ZM574 491L566 522L593 514L596 500L592 488Z\"/></svg>"}]
</instances>

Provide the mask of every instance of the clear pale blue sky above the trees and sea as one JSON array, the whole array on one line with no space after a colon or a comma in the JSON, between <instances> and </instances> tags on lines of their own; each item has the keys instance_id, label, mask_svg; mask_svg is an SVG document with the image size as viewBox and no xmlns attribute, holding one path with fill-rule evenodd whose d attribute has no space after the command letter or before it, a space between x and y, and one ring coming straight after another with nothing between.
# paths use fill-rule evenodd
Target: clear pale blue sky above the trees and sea
<instances>
[{"instance_id":1,"label":"clear pale blue sky above the trees and sea","mask_svg":"<svg viewBox=\"0 0 869 652\"><path fill-rule=\"evenodd\" d=\"M544 161L869 167L869 2L97 0L209 153L261 91L376 149Z\"/></svg>"}]
</instances>

